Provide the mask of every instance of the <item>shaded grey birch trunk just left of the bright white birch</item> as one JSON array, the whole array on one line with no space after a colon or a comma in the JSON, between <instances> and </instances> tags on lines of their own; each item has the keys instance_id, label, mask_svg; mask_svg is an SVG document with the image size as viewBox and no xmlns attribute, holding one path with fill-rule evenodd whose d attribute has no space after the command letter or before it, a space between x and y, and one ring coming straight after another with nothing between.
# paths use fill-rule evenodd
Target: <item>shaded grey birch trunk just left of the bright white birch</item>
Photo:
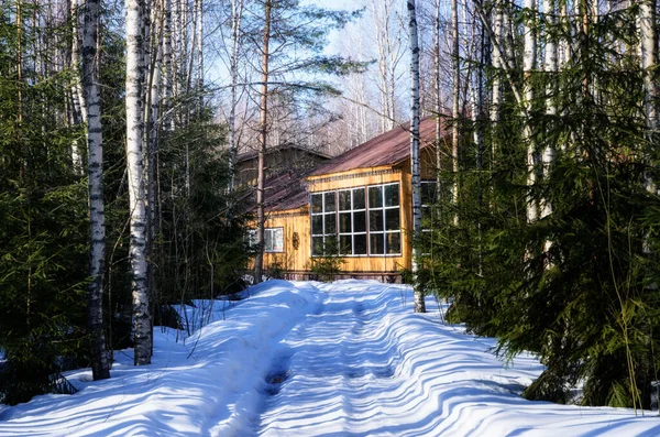
<instances>
[{"instance_id":1,"label":"shaded grey birch trunk just left of the bright white birch","mask_svg":"<svg viewBox=\"0 0 660 437\"><path fill-rule=\"evenodd\" d=\"M87 119L88 192L89 192L89 276L87 315L94 380L110 378L103 326L103 273L106 264L106 212L103 206L103 138L101 131L101 96L98 83L97 35L99 0L87 0L82 28L82 95ZM76 36L77 37L77 36Z\"/></svg>"}]
</instances>

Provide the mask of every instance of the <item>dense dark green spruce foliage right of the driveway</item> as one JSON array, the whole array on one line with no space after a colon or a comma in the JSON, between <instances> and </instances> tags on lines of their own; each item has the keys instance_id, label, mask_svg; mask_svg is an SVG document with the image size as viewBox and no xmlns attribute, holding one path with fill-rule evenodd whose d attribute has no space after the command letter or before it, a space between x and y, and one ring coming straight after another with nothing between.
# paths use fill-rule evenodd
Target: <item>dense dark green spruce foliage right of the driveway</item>
<instances>
[{"instance_id":1,"label":"dense dark green spruce foliage right of the driveway","mask_svg":"<svg viewBox=\"0 0 660 437\"><path fill-rule=\"evenodd\" d=\"M529 80L535 88L531 112L520 116L509 81L499 122L482 127L496 154L484 156L488 170L480 171L476 150L465 146L453 209L448 187L454 175L441 174L446 189L429 225L435 231L422 242L430 253L427 281L451 303L449 320L496 336L504 357L524 350L540 357L547 369L527 397L566 402L570 389L584 382L582 404L648 408L660 364L660 302L658 196L645 181L657 179L648 165L657 146L641 110L637 8L597 20L586 6L579 10L583 15L570 15L569 26L560 20L543 28L538 13L514 12L518 22L570 39L572 57L559 72L536 70L528 79L520 66L512 72L513 86ZM490 75L508 79L502 70ZM556 95L548 94L551 81ZM544 110L550 101L556 114ZM465 133L480 129L453 122ZM525 122L529 139L521 134ZM553 157L536 162L532 185L528 141L538 156L550 148ZM530 201L550 205L549 214L530 221Z\"/></svg>"}]
</instances>

